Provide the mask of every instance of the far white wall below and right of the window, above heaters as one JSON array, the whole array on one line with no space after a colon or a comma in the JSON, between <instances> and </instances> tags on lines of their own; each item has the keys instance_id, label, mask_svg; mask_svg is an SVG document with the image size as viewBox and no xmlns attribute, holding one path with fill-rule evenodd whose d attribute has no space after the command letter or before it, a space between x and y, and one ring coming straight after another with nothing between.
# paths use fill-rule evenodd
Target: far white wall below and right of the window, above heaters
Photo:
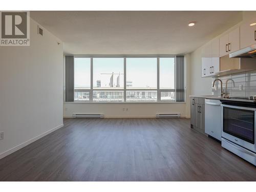
<instances>
[{"instance_id":1,"label":"far white wall below and right of the window, above heaters","mask_svg":"<svg viewBox=\"0 0 256 192\"><path fill-rule=\"evenodd\" d=\"M109 118L136 118L136 117L156 117L158 113L180 113L182 117L190 117L189 108L189 61L190 55L185 56L185 87L186 101L183 103L64 103L64 117L72 117L73 114L104 114ZM125 111L123 111L125 108ZM128 111L126 111L128 108Z\"/></svg>"}]
</instances>

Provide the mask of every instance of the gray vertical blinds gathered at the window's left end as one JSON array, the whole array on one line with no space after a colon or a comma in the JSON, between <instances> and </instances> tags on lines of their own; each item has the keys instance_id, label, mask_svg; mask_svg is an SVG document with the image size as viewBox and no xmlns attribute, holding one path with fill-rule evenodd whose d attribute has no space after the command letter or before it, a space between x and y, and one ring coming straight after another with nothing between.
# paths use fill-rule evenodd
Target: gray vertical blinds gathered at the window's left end
<instances>
[{"instance_id":1,"label":"gray vertical blinds gathered at the window's left end","mask_svg":"<svg viewBox=\"0 0 256 192\"><path fill-rule=\"evenodd\" d=\"M65 56L65 100L74 101L74 56Z\"/></svg>"}]
</instances>

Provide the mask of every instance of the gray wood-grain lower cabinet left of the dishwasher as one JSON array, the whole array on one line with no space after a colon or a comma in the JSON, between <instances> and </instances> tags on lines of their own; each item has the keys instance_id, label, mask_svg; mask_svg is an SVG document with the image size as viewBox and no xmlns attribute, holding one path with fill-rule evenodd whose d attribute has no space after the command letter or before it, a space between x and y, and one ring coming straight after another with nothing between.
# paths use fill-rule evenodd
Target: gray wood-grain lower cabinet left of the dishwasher
<instances>
[{"instance_id":1,"label":"gray wood-grain lower cabinet left of the dishwasher","mask_svg":"<svg viewBox=\"0 0 256 192\"><path fill-rule=\"evenodd\" d=\"M204 133L204 98L190 97L191 128Z\"/></svg>"}]
</instances>

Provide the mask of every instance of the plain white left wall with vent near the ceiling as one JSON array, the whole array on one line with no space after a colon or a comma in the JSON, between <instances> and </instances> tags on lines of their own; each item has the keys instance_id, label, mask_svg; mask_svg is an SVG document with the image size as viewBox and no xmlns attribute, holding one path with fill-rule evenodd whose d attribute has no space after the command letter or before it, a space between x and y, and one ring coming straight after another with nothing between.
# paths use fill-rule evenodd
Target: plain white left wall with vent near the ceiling
<instances>
[{"instance_id":1,"label":"plain white left wall with vent near the ceiling","mask_svg":"<svg viewBox=\"0 0 256 192\"><path fill-rule=\"evenodd\" d=\"M0 47L0 159L63 124L62 43L30 20L29 47Z\"/></svg>"}]
</instances>

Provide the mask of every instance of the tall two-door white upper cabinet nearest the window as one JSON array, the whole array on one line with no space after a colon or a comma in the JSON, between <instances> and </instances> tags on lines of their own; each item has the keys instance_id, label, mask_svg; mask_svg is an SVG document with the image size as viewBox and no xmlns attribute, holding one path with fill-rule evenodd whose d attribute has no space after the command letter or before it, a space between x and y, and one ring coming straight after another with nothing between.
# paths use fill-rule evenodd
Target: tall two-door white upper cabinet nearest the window
<instances>
[{"instance_id":1,"label":"tall two-door white upper cabinet nearest the window","mask_svg":"<svg viewBox=\"0 0 256 192\"><path fill-rule=\"evenodd\" d=\"M220 70L219 38L202 48L202 77L212 76Z\"/></svg>"}]
</instances>

